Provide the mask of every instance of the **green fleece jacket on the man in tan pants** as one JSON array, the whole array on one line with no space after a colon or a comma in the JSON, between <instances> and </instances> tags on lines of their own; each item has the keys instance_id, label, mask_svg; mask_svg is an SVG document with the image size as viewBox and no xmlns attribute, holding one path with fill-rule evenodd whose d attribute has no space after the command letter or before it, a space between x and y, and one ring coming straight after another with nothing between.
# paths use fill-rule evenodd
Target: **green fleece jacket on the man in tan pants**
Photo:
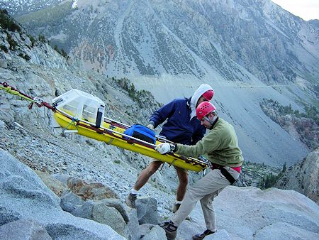
<instances>
[{"instance_id":1,"label":"green fleece jacket on the man in tan pants","mask_svg":"<svg viewBox=\"0 0 319 240\"><path fill-rule=\"evenodd\" d=\"M229 167L239 167L244 160L233 126L220 117L201 141L193 146L177 143L175 153L195 158L207 153L211 163Z\"/></svg>"}]
</instances>

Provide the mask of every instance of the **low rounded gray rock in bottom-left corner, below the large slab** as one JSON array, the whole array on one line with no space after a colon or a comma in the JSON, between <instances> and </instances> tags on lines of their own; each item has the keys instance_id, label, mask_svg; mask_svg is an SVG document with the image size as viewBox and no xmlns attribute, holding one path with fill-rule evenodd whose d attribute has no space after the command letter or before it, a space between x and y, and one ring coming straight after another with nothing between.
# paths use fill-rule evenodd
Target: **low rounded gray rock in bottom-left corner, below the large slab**
<instances>
[{"instance_id":1,"label":"low rounded gray rock in bottom-left corner, below the large slab","mask_svg":"<svg viewBox=\"0 0 319 240\"><path fill-rule=\"evenodd\" d=\"M20 219L0 227L0 239L52 239L43 225L33 219Z\"/></svg>"}]
</instances>

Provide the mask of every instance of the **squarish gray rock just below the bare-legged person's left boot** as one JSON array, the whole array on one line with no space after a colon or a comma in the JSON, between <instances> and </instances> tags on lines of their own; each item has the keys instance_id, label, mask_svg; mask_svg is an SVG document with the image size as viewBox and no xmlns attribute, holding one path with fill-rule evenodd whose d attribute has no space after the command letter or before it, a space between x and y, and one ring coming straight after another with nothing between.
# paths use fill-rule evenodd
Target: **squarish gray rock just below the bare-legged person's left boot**
<instances>
[{"instance_id":1,"label":"squarish gray rock just below the bare-legged person's left boot","mask_svg":"<svg viewBox=\"0 0 319 240\"><path fill-rule=\"evenodd\" d=\"M157 224L157 201L153 197L142 197L136 200L138 210L138 222L142 224Z\"/></svg>"}]
</instances>

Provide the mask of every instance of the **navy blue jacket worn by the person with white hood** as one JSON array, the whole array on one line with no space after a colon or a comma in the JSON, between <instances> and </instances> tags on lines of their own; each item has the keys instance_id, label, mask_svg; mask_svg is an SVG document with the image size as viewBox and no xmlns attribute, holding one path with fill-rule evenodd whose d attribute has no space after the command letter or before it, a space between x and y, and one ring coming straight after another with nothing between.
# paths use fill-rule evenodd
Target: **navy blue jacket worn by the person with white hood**
<instances>
[{"instance_id":1,"label":"navy blue jacket worn by the person with white hood","mask_svg":"<svg viewBox=\"0 0 319 240\"><path fill-rule=\"evenodd\" d=\"M206 129L196 118L190 119L191 108L189 99L174 99L154 112L150 117L150 123L156 128L166 119L162 131L159 133L169 141L187 145L196 144L203 138Z\"/></svg>"}]
</instances>

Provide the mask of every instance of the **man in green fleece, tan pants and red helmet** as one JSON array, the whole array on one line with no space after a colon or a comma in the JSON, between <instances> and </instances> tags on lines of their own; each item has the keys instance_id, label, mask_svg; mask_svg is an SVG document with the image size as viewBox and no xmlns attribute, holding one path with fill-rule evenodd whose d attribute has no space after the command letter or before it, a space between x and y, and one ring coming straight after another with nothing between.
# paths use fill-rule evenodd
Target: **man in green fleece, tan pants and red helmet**
<instances>
[{"instance_id":1,"label":"man in green fleece, tan pants and red helmet","mask_svg":"<svg viewBox=\"0 0 319 240\"><path fill-rule=\"evenodd\" d=\"M227 121L218 117L215 110L216 107L210 102L202 102L196 108L197 118L210 130L196 145L161 143L155 148L162 154L174 151L186 157L196 158L207 154L212 166L210 173L189 188L181 206L170 221L160 224L166 231L167 239L175 239L177 227L194 209L198 200L203 209L206 230L202 234L194 235L193 239L203 239L216 232L213 198L239 178L244 158L238 147L235 130Z\"/></svg>"}]
</instances>

